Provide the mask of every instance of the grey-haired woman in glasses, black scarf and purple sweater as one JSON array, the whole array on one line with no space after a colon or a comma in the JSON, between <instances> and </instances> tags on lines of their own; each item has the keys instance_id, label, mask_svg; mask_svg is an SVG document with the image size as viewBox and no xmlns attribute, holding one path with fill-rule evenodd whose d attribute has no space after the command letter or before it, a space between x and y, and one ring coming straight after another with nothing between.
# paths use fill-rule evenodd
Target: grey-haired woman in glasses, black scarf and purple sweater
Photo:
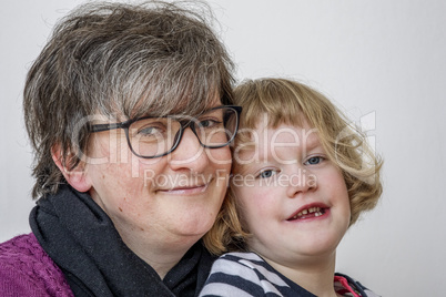
<instances>
[{"instance_id":1,"label":"grey-haired woman in glasses, black scarf and purple sweater","mask_svg":"<svg viewBox=\"0 0 446 297\"><path fill-rule=\"evenodd\" d=\"M0 245L2 296L200 291L240 113L205 16L93 3L55 27L24 88L38 203Z\"/></svg>"}]
</instances>

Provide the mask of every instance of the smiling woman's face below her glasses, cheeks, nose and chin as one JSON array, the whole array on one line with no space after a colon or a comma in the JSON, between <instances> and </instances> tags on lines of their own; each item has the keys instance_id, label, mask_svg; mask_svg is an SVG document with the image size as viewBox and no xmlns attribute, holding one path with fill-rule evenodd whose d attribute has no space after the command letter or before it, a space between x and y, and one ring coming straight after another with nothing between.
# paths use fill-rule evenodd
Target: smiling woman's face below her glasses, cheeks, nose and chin
<instances>
[{"instance_id":1,"label":"smiling woman's face below her glasses, cheeks, nose and chin","mask_svg":"<svg viewBox=\"0 0 446 297\"><path fill-rule=\"evenodd\" d=\"M184 249L211 228L226 192L229 146L203 148L186 129L171 154L141 158L130 151L123 130L92 137L84 173L89 193L130 248L151 243Z\"/></svg>"}]
</instances>

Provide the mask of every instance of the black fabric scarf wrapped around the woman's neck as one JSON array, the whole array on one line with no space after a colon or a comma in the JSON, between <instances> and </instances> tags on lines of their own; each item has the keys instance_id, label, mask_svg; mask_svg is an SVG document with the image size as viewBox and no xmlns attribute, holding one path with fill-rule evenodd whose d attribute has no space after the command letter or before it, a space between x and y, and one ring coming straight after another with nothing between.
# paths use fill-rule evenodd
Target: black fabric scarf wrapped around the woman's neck
<instances>
[{"instance_id":1,"label":"black fabric scarf wrapped around the woman's neck","mask_svg":"<svg viewBox=\"0 0 446 297\"><path fill-rule=\"evenodd\" d=\"M199 242L162 280L102 208L67 185L38 202L30 225L75 296L195 296L214 260Z\"/></svg>"}]
</instances>

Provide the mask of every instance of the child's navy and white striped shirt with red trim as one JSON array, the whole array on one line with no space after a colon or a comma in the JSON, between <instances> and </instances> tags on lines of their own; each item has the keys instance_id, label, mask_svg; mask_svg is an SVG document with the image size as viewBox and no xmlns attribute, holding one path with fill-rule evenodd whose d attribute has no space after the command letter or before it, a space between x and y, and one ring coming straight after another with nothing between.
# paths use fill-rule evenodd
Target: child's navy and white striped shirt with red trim
<instances>
[{"instance_id":1,"label":"child's navy and white striped shirt with red trim","mask_svg":"<svg viewBox=\"0 0 446 297\"><path fill-rule=\"evenodd\" d=\"M345 297L379 297L353 278L336 274L334 287ZM215 260L200 296L315 297L254 253L227 253Z\"/></svg>"}]
</instances>

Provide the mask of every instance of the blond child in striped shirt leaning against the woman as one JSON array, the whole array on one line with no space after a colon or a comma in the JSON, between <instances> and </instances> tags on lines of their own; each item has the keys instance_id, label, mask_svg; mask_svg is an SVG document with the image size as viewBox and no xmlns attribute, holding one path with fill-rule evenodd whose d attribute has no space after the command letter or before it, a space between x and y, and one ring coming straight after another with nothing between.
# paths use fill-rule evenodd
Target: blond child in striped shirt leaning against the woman
<instances>
[{"instance_id":1,"label":"blond child in striped shirt leaning against the woman","mask_svg":"<svg viewBox=\"0 0 446 297\"><path fill-rule=\"evenodd\" d=\"M294 81L247 81L235 103L244 114L226 203L236 211L213 238L213 253L233 253L214 263L201 296L377 296L334 273L342 237L382 193L364 135Z\"/></svg>"}]
</instances>

